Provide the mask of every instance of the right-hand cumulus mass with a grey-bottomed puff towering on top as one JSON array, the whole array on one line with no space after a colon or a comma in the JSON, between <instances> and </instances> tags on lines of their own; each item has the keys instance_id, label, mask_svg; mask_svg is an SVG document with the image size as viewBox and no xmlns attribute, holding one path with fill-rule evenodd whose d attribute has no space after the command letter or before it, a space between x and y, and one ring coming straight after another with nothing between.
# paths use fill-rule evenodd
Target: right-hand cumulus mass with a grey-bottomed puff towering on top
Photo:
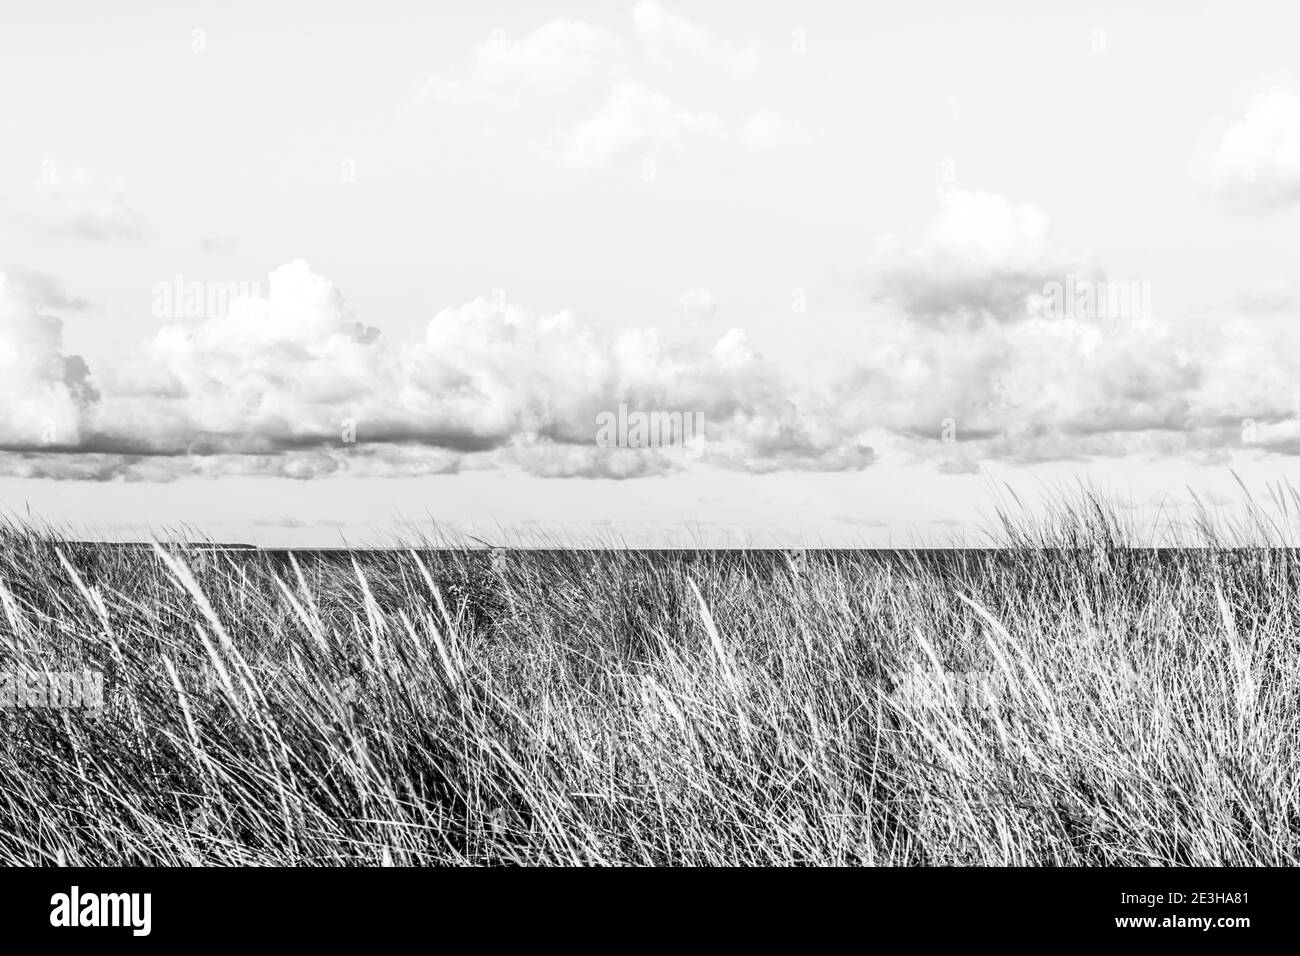
<instances>
[{"instance_id":1,"label":"right-hand cumulus mass with a grey-bottomed puff towering on top","mask_svg":"<svg viewBox=\"0 0 1300 956\"><path fill-rule=\"evenodd\" d=\"M1048 284L1100 272L1062 251L1036 207L956 190L916 241L884 239L875 265L896 308L836 384L842 434L948 471L1300 450L1300 316L1286 290L1204 324L1148 308L1053 312Z\"/></svg>"}]
</instances>

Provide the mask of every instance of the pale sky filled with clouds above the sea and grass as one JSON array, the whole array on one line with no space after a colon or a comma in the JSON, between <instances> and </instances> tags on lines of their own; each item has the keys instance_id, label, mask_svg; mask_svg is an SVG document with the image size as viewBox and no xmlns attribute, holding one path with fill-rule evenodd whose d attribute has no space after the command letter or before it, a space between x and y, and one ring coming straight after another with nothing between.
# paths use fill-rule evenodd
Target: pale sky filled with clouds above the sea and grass
<instances>
[{"instance_id":1,"label":"pale sky filled with clouds above the sea and grass","mask_svg":"<svg viewBox=\"0 0 1300 956\"><path fill-rule=\"evenodd\" d=\"M1006 489L1227 503L1300 451L1297 35L1288 3L5 0L0 506L880 546L976 541Z\"/></svg>"}]
</instances>

